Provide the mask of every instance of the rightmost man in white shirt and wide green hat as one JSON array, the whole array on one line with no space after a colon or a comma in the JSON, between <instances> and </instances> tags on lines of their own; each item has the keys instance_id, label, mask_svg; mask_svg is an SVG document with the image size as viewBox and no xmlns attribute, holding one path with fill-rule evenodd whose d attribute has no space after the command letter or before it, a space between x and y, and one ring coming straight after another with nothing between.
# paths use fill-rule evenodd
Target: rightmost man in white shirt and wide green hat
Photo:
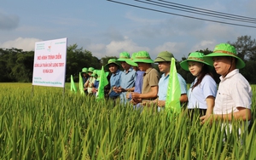
<instances>
[{"instance_id":1,"label":"rightmost man in white shirt and wide green hat","mask_svg":"<svg viewBox=\"0 0 256 160\"><path fill-rule=\"evenodd\" d=\"M220 43L215 46L212 54L204 56L204 60L213 64L215 71L220 75L220 83L213 114L202 116L201 123L208 120L231 122L232 119L246 123L252 117L252 89L247 79L239 73L245 63L237 56L235 47Z\"/></svg>"}]
</instances>

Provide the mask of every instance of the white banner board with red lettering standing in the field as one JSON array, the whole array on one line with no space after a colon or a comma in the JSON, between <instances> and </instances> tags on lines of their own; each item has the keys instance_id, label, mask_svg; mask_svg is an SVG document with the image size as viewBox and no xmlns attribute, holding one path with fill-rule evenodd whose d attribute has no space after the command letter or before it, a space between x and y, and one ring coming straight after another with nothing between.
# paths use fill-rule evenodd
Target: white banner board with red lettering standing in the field
<instances>
[{"instance_id":1,"label":"white banner board with red lettering standing in the field","mask_svg":"<svg viewBox=\"0 0 256 160\"><path fill-rule=\"evenodd\" d=\"M32 85L65 86L67 37L35 43Z\"/></svg>"}]
</instances>

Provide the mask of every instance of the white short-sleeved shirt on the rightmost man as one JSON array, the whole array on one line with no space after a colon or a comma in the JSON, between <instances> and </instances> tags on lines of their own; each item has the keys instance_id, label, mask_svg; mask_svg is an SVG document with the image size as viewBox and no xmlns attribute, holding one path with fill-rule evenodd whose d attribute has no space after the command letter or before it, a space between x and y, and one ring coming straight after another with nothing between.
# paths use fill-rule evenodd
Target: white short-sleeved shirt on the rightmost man
<instances>
[{"instance_id":1,"label":"white short-sleeved shirt on the rightmost man","mask_svg":"<svg viewBox=\"0 0 256 160\"><path fill-rule=\"evenodd\" d=\"M251 109L252 96L252 89L247 79L239 73L238 69L230 71L226 77L220 77L213 113L236 112L238 106Z\"/></svg>"}]
</instances>

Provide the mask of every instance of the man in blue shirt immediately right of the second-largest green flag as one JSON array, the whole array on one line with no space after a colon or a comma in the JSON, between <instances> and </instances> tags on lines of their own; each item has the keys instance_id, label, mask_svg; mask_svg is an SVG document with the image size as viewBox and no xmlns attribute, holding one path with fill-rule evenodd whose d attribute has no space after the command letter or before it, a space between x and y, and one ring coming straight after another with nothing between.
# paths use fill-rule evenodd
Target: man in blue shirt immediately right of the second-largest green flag
<instances>
[{"instance_id":1,"label":"man in blue shirt immediately right of the second-largest green flag","mask_svg":"<svg viewBox=\"0 0 256 160\"><path fill-rule=\"evenodd\" d=\"M122 72L119 70L119 62L115 59L109 59L108 64L105 65L105 68L107 67L111 73L109 79L110 90L108 93L108 98L116 101L119 98L119 93L115 92L114 90L120 87L120 77Z\"/></svg>"}]
</instances>

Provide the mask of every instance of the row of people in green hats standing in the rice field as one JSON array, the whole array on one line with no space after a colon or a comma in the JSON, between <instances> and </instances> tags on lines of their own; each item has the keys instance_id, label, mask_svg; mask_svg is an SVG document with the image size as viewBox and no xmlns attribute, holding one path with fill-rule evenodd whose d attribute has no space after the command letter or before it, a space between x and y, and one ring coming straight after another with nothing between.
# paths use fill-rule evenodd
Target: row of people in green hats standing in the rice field
<instances>
[{"instance_id":1,"label":"row of people in green hats standing in the rice field","mask_svg":"<svg viewBox=\"0 0 256 160\"><path fill-rule=\"evenodd\" d=\"M130 54L122 52L119 59L110 59L105 69L109 74L109 85L106 96L111 100L119 100L123 105L131 105L134 109L155 107L157 111L165 109L166 93L169 83L170 66L173 54L160 52L152 60L147 51ZM159 71L153 67L157 63ZM192 52L180 66L195 77L187 89L184 78L177 73L181 94L180 103L188 109L189 116L199 112L201 123L212 120L249 121L252 117L252 89L247 79L239 73L245 66L236 53L234 46L220 43L212 54ZM212 70L220 75L220 83L215 83ZM160 75L162 73L162 75ZM99 72L94 68L82 70L84 91L96 94ZM107 89L108 88L108 89Z\"/></svg>"}]
</instances>

